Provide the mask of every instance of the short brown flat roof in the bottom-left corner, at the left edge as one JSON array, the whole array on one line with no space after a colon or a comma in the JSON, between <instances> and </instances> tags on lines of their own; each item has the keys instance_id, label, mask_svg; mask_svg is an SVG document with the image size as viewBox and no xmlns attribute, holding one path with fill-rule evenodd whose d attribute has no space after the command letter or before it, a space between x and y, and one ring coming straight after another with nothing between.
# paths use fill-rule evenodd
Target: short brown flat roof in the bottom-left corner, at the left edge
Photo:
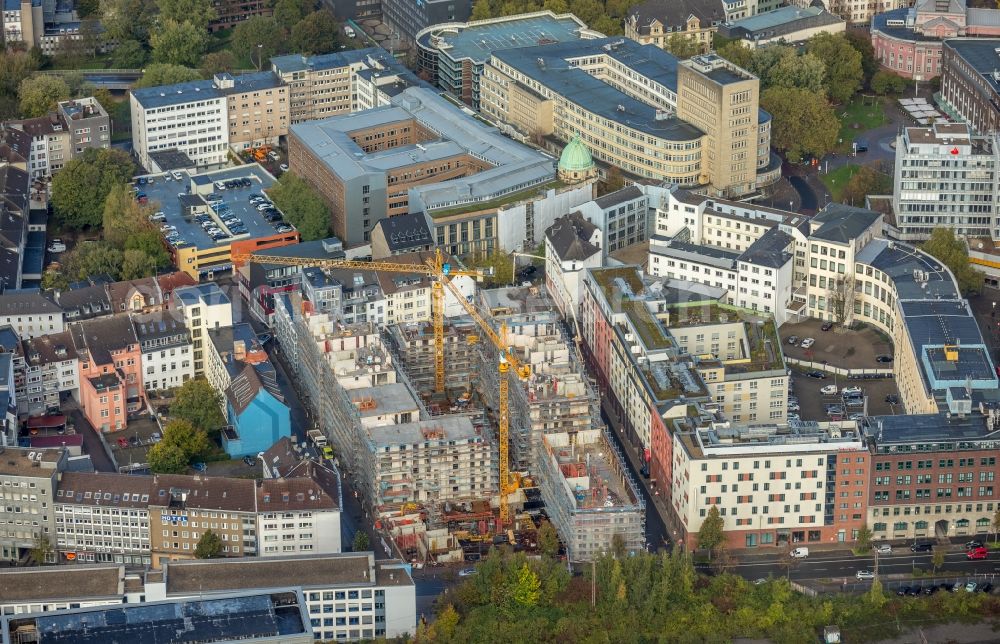
<instances>
[{"instance_id":1,"label":"short brown flat roof in the bottom-left corner, at the left edge","mask_svg":"<svg viewBox=\"0 0 1000 644\"><path fill-rule=\"evenodd\" d=\"M73 564L0 570L0 604L121 597L122 566Z\"/></svg>"}]
</instances>

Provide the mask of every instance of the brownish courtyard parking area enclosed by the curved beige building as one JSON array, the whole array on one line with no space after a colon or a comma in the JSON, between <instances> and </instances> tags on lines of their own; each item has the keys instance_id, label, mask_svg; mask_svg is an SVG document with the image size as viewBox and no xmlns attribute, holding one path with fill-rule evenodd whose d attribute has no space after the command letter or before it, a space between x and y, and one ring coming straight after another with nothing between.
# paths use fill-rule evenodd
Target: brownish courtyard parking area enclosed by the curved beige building
<instances>
[{"instance_id":1,"label":"brownish courtyard parking area enclosed by the curved beige building","mask_svg":"<svg viewBox=\"0 0 1000 644\"><path fill-rule=\"evenodd\" d=\"M806 320L797 324L784 324L779 329L781 349L789 358L827 362L844 369L885 369L891 364L875 362L875 356L892 355L892 342L871 327L845 331L834 325L829 331L822 331L821 320ZM788 344L788 338L797 336L795 346ZM816 343L808 349L799 344L805 338L813 338Z\"/></svg>"}]
</instances>

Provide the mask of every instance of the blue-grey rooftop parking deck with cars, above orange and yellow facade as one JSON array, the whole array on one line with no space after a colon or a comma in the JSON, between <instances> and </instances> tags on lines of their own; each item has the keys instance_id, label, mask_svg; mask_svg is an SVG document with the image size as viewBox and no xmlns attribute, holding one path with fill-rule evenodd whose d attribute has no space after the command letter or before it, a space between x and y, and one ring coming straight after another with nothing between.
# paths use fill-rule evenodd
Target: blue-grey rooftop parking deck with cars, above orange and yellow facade
<instances>
[{"instance_id":1,"label":"blue-grey rooftop parking deck with cars, above orange and yellow facade","mask_svg":"<svg viewBox=\"0 0 1000 644\"><path fill-rule=\"evenodd\" d=\"M162 211L166 220L160 222L161 226L175 226L180 239L193 245L198 250L209 248L223 248L234 241L244 239L257 239L280 235L274 230L274 224L264 219L257 208L250 204L250 195L260 194L262 190L267 190L274 185L274 177L270 175L259 164L249 164L224 170L195 175L190 182L187 178L181 181L174 181L168 173L158 175L146 175L146 179L153 178L153 183L146 183L138 186L139 190L146 193L149 202L156 210ZM187 175L185 175L187 177ZM191 190L191 182L194 185L204 185L215 181L228 181L231 179L249 178L251 186L249 188L230 188L220 190L217 194L222 197L223 203L227 205L232 214L243 220L247 232L223 238L215 241L208 236L205 229L201 227L186 206L195 206L199 212L212 213L208 203L201 196ZM225 224L217 220L216 224L223 231L227 231Z\"/></svg>"}]
</instances>

